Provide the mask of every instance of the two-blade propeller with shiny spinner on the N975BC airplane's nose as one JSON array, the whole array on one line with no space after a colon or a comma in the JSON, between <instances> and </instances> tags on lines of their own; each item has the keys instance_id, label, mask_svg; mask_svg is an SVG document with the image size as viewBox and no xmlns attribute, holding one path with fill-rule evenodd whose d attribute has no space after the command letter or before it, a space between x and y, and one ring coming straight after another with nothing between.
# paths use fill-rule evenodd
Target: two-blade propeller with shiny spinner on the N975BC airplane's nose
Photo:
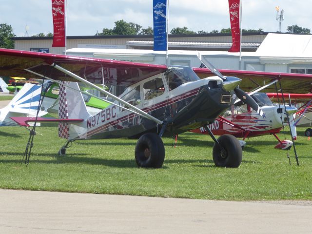
<instances>
[{"instance_id":1,"label":"two-blade propeller with shiny spinner on the N975BC airplane's nose","mask_svg":"<svg viewBox=\"0 0 312 234\"><path fill-rule=\"evenodd\" d=\"M260 106L255 102L253 98L251 98L247 93L238 88L238 84L241 79L236 77L224 77L215 67L211 64L207 59L201 58L201 55L198 54L197 57L201 60L201 62L212 71L217 77L223 80L223 89L226 91L234 90L237 98L239 98L244 104L248 104L253 110L255 110L260 116L263 116L263 112ZM204 60L204 61L203 61ZM229 86L229 87L226 87ZM232 88L232 89L231 89Z\"/></svg>"}]
</instances>

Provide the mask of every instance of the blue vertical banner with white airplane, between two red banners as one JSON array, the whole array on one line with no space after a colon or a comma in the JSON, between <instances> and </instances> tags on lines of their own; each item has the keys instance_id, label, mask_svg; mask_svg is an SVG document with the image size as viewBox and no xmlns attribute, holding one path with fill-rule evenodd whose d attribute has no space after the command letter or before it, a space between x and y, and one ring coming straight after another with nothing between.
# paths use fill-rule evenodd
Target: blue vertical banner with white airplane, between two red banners
<instances>
[{"instance_id":1,"label":"blue vertical banner with white airplane, between two red banners","mask_svg":"<svg viewBox=\"0 0 312 234\"><path fill-rule=\"evenodd\" d=\"M167 50L167 0L153 0L154 51Z\"/></svg>"}]
</instances>

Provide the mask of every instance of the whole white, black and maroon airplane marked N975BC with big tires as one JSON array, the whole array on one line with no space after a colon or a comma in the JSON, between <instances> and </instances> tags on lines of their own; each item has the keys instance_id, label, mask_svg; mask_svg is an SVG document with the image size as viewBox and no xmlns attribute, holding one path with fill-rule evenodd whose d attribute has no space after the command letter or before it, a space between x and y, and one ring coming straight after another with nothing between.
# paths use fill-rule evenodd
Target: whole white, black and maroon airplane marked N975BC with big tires
<instances>
[{"instance_id":1,"label":"whole white, black and maroon airplane marked N975BC with big tires","mask_svg":"<svg viewBox=\"0 0 312 234\"><path fill-rule=\"evenodd\" d=\"M161 167L165 158L161 137L172 137L213 122L236 97L262 114L254 99L238 88L240 78L225 78L216 69L213 72L214 77L200 79L190 67L0 49L0 75L23 74L27 78L63 82L57 121L59 136L67 141L60 154L65 154L69 143L79 139L137 138L135 159L140 167ZM96 85L103 84L103 80L115 93ZM112 98L111 105L91 115L77 82ZM24 126L30 121L14 119ZM212 133L210 136L215 141L215 165L238 167L242 160L238 140L231 135L219 139Z\"/></svg>"}]
</instances>

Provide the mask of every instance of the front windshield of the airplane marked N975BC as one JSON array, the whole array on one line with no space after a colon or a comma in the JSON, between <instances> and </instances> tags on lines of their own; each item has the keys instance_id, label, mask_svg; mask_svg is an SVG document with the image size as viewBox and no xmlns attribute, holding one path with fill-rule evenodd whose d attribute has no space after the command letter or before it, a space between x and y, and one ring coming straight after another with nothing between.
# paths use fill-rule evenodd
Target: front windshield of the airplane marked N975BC
<instances>
[{"instance_id":1,"label":"front windshield of the airplane marked N975BC","mask_svg":"<svg viewBox=\"0 0 312 234\"><path fill-rule=\"evenodd\" d=\"M173 90L181 84L200 79L192 68L183 66L169 67L165 72L165 76L169 84L169 90Z\"/></svg>"}]
</instances>

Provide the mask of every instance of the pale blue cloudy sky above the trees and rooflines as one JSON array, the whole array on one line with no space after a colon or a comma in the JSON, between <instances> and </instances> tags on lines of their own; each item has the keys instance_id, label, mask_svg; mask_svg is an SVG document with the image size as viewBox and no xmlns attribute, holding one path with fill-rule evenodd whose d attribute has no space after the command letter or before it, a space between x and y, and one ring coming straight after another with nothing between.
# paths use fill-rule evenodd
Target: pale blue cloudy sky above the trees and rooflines
<instances>
[{"instance_id":1,"label":"pale blue cloudy sky above the trees and rooflines","mask_svg":"<svg viewBox=\"0 0 312 234\"><path fill-rule=\"evenodd\" d=\"M168 0L169 32L176 27L192 31L230 27L228 0ZM242 28L276 32L275 7L284 10L281 32L297 24L312 31L312 0L242 0ZM115 21L153 27L153 0L67 0L67 36L92 36ZM53 33L51 0L0 0L0 24L12 26L17 37Z\"/></svg>"}]
</instances>

